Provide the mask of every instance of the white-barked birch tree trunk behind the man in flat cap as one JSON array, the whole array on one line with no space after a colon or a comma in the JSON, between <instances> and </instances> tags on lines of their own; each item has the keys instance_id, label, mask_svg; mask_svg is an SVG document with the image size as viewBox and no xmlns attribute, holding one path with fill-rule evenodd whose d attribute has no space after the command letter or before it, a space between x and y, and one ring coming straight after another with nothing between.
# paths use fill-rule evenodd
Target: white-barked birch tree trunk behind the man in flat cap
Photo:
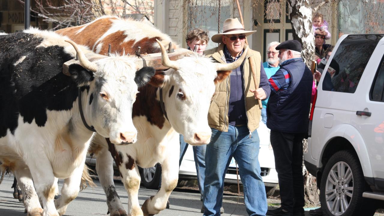
<instances>
[{"instance_id":1,"label":"white-barked birch tree trunk behind the man in flat cap","mask_svg":"<svg viewBox=\"0 0 384 216\"><path fill-rule=\"evenodd\" d=\"M314 35L312 30L312 9L309 0L288 0L292 8L290 13L293 39L298 40L303 47L301 56L308 67L314 59ZM306 149L307 140L303 141ZM319 193L316 186L316 178L304 168L304 194L307 205L319 204ZM295 180L295 179L294 179Z\"/></svg>"}]
</instances>

